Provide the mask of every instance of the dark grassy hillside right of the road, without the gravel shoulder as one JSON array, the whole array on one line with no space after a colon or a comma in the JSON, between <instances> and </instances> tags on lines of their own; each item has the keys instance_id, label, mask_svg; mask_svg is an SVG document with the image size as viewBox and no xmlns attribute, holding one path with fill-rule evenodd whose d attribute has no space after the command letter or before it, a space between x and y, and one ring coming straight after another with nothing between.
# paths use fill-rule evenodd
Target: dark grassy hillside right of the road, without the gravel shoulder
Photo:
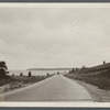
<instances>
[{"instance_id":1,"label":"dark grassy hillside right of the road, without the gravel shoulder","mask_svg":"<svg viewBox=\"0 0 110 110\"><path fill-rule=\"evenodd\" d=\"M100 89L110 90L110 64L80 69L65 76L98 86Z\"/></svg>"}]
</instances>

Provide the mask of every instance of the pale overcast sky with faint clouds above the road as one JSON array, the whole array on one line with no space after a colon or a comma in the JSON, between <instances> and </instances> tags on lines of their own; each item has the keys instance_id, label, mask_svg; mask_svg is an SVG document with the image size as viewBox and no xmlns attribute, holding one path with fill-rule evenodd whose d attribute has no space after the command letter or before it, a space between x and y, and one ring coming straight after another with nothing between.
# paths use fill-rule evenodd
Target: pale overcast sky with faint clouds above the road
<instances>
[{"instance_id":1,"label":"pale overcast sky with faint clouds above the road","mask_svg":"<svg viewBox=\"0 0 110 110\"><path fill-rule=\"evenodd\" d=\"M0 61L9 69L110 62L110 8L0 8Z\"/></svg>"}]
</instances>

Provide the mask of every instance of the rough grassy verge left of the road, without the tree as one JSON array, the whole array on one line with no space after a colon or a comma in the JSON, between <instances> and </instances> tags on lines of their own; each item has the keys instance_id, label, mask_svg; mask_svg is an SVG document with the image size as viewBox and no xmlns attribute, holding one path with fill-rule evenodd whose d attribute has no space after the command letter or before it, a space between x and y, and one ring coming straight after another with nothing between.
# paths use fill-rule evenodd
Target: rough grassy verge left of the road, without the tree
<instances>
[{"instance_id":1,"label":"rough grassy verge left of the road, without the tree","mask_svg":"<svg viewBox=\"0 0 110 110\"><path fill-rule=\"evenodd\" d=\"M53 75L45 76L6 76L4 78L0 78L0 92L7 92L14 90L16 88L25 87L28 85L38 82L44 80Z\"/></svg>"}]
</instances>

